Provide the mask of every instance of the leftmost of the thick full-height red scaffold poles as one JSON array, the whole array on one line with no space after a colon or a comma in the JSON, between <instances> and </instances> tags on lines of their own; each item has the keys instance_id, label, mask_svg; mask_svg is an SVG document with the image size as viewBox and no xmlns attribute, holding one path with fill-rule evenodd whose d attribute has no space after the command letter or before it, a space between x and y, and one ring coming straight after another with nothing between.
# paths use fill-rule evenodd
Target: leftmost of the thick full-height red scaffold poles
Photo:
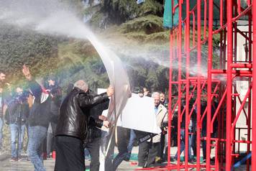
<instances>
[{"instance_id":1,"label":"leftmost of the thick full-height red scaffold poles","mask_svg":"<svg viewBox=\"0 0 256 171\"><path fill-rule=\"evenodd\" d=\"M181 53L182 53L182 18L181 18L181 11L182 11L182 0L178 2L178 162L177 162L177 169L180 170L180 107L181 107Z\"/></svg>"}]
</instances>

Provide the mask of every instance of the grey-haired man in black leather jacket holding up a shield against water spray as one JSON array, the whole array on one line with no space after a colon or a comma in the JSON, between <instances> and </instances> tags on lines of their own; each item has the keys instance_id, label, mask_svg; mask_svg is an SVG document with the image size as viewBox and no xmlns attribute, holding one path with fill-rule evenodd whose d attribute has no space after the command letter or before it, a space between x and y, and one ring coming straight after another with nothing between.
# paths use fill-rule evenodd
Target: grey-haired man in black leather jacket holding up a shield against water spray
<instances>
[{"instance_id":1,"label":"grey-haired man in black leather jacket holding up a shield against water spray","mask_svg":"<svg viewBox=\"0 0 256 171\"><path fill-rule=\"evenodd\" d=\"M55 171L84 171L86 169L83 154L83 141L86 139L88 117L93 105L102 103L114 94L109 87L106 93L90 96L88 84L78 80L73 91L60 105L60 117L56 129ZM83 110L82 110L83 109ZM103 122L109 127L109 121Z\"/></svg>"}]
</instances>

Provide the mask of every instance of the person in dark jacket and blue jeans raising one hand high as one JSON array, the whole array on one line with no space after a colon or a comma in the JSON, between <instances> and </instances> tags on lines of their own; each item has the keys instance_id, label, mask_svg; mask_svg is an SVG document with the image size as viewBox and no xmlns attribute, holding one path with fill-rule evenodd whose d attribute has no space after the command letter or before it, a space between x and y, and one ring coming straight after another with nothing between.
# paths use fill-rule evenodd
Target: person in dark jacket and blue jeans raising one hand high
<instances>
[{"instance_id":1,"label":"person in dark jacket and blue jeans raising one hand high","mask_svg":"<svg viewBox=\"0 0 256 171\"><path fill-rule=\"evenodd\" d=\"M50 123L52 115L50 111L52 98L50 93L32 78L29 68L26 65L23 65L22 73L27 78L29 89L35 97L28 118L29 142L27 145L27 154L36 171L45 171L40 146L47 136L47 126Z\"/></svg>"}]
</instances>

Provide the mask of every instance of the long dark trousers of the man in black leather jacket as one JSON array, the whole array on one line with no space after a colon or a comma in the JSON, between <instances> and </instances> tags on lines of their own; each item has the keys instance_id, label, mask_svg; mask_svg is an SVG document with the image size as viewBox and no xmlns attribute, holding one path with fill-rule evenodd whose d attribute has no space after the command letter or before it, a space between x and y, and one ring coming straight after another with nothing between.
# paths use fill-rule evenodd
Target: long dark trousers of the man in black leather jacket
<instances>
[{"instance_id":1,"label":"long dark trousers of the man in black leather jacket","mask_svg":"<svg viewBox=\"0 0 256 171\"><path fill-rule=\"evenodd\" d=\"M83 142L68 136L55 137L56 162L55 171L84 171Z\"/></svg>"}]
</instances>

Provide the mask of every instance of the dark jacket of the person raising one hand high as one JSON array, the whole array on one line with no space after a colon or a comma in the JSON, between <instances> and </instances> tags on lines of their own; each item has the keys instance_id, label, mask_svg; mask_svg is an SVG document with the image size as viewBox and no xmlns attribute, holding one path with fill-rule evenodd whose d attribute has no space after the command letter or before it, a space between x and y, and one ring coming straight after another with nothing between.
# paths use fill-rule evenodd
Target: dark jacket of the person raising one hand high
<instances>
[{"instance_id":1,"label":"dark jacket of the person raising one hand high","mask_svg":"<svg viewBox=\"0 0 256 171\"><path fill-rule=\"evenodd\" d=\"M47 128L52 116L50 111L51 97L48 96L46 101L41 103L43 91L41 86L35 80L29 81L29 88L35 97L35 101L29 113L29 126L45 126Z\"/></svg>"}]
</instances>

